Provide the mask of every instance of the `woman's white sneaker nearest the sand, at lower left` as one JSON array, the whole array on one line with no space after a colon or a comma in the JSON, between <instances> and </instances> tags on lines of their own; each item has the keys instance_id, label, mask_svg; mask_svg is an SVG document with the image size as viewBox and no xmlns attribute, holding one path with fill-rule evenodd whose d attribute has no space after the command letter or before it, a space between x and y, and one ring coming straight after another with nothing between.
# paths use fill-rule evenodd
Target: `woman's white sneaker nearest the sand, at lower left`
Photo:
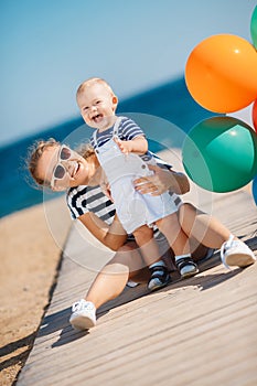
<instances>
[{"instance_id":1,"label":"woman's white sneaker nearest the sand, at lower left","mask_svg":"<svg viewBox=\"0 0 257 386\"><path fill-rule=\"evenodd\" d=\"M96 325L96 308L90 301L82 299L72 307L69 323L76 330L88 330Z\"/></svg>"}]
</instances>

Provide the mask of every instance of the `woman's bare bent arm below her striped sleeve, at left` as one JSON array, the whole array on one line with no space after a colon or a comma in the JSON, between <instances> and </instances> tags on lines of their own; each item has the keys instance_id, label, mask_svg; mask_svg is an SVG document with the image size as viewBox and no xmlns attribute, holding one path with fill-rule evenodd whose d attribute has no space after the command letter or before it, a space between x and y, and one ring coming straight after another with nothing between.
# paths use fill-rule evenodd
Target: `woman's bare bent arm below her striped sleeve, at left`
<instances>
[{"instance_id":1,"label":"woman's bare bent arm below her striped sleeve, at left","mask_svg":"<svg viewBox=\"0 0 257 386\"><path fill-rule=\"evenodd\" d=\"M78 219L100 243L113 250L118 250L127 239L127 234L116 215L111 225L90 212L83 214Z\"/></svg>"}]
</instances>

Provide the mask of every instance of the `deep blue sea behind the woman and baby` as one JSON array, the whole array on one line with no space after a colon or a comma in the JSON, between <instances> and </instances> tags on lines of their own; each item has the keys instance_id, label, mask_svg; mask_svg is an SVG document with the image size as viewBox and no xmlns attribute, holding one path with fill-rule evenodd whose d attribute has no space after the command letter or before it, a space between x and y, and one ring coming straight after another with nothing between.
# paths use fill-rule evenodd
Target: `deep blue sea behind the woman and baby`
<instances>
[{"instance_id":1,"label":"deep blue sea behind the woman and baby","mask_svg":"<svg viewBox=\"0 0 257 386\"><path fill-rule=\"evenodd\" d=\"M186 135L197 122L214 115L194 101L186 88L183 76L120 100L117 114L130 115L137 122L139 120L140 125L142 122L141 126L146 126L143 129L149 139L150 150L153 152L174 146L174 137L178 137L178 132ZM150 126L150 135L148 135L148 126ZM173 128L176 129L173 130ZM43 200L54 199L57 195L54 193L45 195L41 190L35 189L30 179L26 158L28 149L32 147L34 141L39 139L46 140L52 137L67 143L66 139L68 138L69 142L67 144L72 146L78 141L79 136L76 136L76 140L74 140L75 137L72 138L71 133L82 132L83 130L84 122L82 118L74 117L55 127L50 127L47 130L0 148L1 217L40 204ZM85 140L87 138L89 138L89 135L85 131ZM82 140L82 137L79 137L79 140Z\"/></svg>"}]
</instances>

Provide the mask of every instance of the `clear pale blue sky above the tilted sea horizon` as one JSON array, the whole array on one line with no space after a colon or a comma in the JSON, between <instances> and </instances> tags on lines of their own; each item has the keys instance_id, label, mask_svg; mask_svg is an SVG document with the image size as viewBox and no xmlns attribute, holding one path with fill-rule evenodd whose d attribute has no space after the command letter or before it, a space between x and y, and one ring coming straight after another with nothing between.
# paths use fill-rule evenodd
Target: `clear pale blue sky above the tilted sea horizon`
<instances>
[{"instance_id":1,"label":"clear pale blue sky above the tilted sea horizon","mask_svg":"<svg viewBox=\"0 0 257 386\"><path fill-rule=\"evenodd\" d=\"M119 99L183 76L202 40L250 40L256 0L0 0L0 146L79 116L104 77Z\"/></svg>"}]
</instances>

